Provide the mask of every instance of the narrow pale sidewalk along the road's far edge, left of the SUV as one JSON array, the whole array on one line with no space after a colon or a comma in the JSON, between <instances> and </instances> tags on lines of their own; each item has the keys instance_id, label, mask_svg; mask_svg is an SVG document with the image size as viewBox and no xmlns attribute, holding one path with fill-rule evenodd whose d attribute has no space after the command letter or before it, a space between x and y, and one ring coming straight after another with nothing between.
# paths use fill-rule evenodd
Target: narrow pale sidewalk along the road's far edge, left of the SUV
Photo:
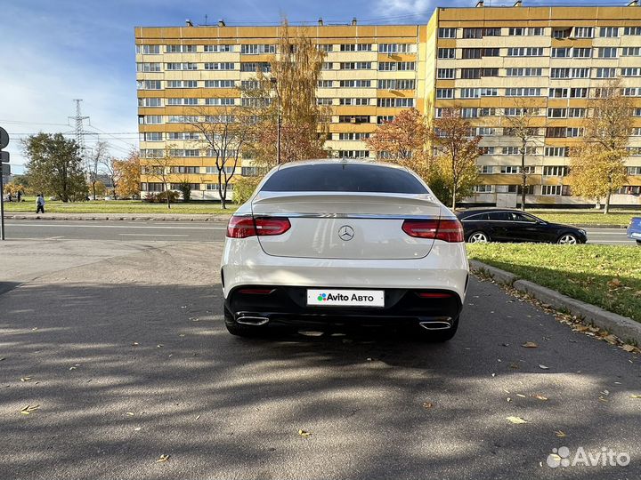
<instances>
[{"instance_id":1,"label":"narrow pale sidewalk along the road's far edge, left of the SUV","mask_svg":"<svg viewBox=\"0 0 641 480\"><path fill-rule=\"evenodd\" d=\"M219 221L227 222L229 214L207 213L4 213L5 220L162 220L162 221Z\"/></svg>"}]
</instances>

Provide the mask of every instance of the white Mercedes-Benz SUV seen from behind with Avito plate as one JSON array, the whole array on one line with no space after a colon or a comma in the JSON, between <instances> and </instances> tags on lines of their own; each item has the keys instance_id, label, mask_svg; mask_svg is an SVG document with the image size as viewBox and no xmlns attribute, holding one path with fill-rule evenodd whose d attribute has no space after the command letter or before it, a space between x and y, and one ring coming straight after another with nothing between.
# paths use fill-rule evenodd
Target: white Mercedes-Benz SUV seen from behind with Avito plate
<instances>
[{"instance_id":1,"label":"white Mercedes-Benz SUV seen from behind with Avito plate","mask_svg":"<svg viewBox=\"0 0 641 480\"><path fill-rule=\"evenodd\" d=\"M317 160L269 172L227 228L221 281L229 332L271 325L458 328L469 269L463 229L414 172Z\"/></svg>"}]
</instances>

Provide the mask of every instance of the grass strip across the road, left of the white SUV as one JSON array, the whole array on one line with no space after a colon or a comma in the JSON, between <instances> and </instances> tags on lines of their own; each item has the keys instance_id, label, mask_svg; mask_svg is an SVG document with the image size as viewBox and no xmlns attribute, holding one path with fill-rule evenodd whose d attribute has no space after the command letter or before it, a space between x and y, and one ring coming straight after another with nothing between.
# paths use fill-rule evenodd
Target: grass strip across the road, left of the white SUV
<instances>
[{"instance_id":1,"label":"grass strip across the road, left of the white SUV","mask_svg":"<svg viewBox=\"0 0 641 480\"><path fill-rule=\"evenodd\" d=\"M25 196L24 202L4 202L4 212L36 212L36 197ZM219 202L193 202L183 204L181 202L172 204L167 209L166 204L148 204L140 200L102 200L90 202L63 202L46 201L45 212L47 213L187 213L221 215L235 212L237 204L227 204L223 210Z\"/></svg>"}]
</instances>

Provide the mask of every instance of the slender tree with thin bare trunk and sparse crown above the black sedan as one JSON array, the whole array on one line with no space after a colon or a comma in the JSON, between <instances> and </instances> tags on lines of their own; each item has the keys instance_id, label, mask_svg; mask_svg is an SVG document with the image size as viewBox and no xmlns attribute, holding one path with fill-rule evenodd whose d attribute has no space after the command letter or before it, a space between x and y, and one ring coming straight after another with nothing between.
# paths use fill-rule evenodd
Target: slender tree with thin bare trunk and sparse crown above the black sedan
<instances>
[{"instance_id":1,"label":"slender tree with thin bare trunk and sparse crown above the black sedan","mask_svg":"<svg viewBox=\"0 0 641 480\"><path fill-rule=\"evenodd\" d=\"M525 166L525 155L533 140L539 136L539 129L534 126L539 108L531 105L528 99L517 98L514 100L514 115L504 115L507 128L503 130L504 135L514 136L519 142L519 153L521 154L521 210L525 211L525 195L528 187L528 169Z\"/></svg>"}]
</instances>

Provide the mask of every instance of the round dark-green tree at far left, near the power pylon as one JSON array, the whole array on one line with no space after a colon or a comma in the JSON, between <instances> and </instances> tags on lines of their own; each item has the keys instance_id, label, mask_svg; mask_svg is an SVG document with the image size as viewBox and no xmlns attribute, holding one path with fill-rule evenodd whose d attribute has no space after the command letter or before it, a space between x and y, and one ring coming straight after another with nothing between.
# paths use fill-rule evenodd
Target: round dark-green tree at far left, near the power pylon
<instances>
[{"instance_id":1,"label":"round dark-green tree at far left, near the power pylon","mask_svg":"<svg viewBox=\"0 0 641 480\"><path fill-rule=\"evenodd\" d=\"M53 194L62 202L84 200L85 173L77 143L62 133L37 133L23 140L28 156L29 186Z\"/></svg>"}]
</instances>

